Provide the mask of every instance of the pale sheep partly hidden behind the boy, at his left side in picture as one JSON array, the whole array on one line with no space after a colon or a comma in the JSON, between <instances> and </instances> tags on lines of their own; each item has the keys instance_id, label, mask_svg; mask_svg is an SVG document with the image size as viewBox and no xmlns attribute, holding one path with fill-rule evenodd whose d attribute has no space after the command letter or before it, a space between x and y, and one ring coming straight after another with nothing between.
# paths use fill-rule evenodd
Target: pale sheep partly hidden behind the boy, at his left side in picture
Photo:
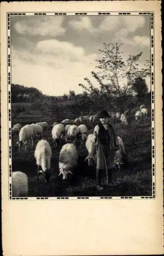
<instances>
[{"instance_id":1,"label":"pale sheep partly hidden behind the boy, at his left side in picture","mask_svg":"<svg viewBox=\"0 0 164 256\"><path fill-rule=\"evenodd\" d=\"M85 161L88 159L88 165L91 166L96 160L96 143L94 134L89 134L86 140L86 148L88 151L88 157L86 157Z\"/></svg>"}]
</instances>

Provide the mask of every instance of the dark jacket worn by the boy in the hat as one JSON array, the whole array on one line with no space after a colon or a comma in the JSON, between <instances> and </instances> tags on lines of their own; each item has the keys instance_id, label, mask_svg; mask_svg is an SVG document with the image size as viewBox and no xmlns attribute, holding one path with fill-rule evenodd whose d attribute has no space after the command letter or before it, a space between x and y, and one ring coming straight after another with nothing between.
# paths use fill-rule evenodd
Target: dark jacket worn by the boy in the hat
<instances>
[{"instance_id":1,"label":"dark jacket worn by the boy in the hat","mask_svg":"<svg viewBox=\"0 0 164 256\"><path fill-rule=\"evenodd\" d=\"M102 123L99 123L99 133L98 139L101 144L109 144L110 150L119 150L118 138L115 134L113 126L111 124L107 124L107 130L105 130Z\"/></svg>"}]
</instances>

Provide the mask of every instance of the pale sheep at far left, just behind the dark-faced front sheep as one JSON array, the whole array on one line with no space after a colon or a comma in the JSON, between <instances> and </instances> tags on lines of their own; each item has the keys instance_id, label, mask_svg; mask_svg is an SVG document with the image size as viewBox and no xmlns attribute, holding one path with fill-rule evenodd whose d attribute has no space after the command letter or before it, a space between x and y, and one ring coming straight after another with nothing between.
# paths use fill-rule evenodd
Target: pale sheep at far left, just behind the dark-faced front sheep
<instances>
[{"instance_id":1,"label":"pale sheep at far left, just behind the dark-faced front sheep","mask_svg":"<svg viewBox=\"0 0 164 256\"><path fill-rule=\"evenodd\" d=\"M17 141L16 144L19 145L19 151L22 147L22 144L24 143L25 145L25 152L27 150L28 147L28 140L32 140L32 146L34 145L34 129L30 124L26 124L23 127L21 127L20 131L19 131L19 140Z\"/></svg>"}]
</instances>

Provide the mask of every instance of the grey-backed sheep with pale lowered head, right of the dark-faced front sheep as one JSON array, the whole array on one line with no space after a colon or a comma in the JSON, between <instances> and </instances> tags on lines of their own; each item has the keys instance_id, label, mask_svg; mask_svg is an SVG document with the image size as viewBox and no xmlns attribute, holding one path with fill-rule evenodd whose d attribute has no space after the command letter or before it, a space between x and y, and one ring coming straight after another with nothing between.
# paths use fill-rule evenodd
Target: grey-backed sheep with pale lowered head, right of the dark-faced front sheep
<instances>
[{"instance_id":1,"label":"grey-backed sheep with pale lowered head, right of the dark-faced front sheep","mask_svg":"<svg viewBox=\"0 0 164 256\"><path fill-rule=\"evenodd\" d=\"M59 176L62 174L63 180L66 180L69 174L73 174L77 161L78 153L75 145L72 143L65 144L59 155Z\"/></svg>"}]
</instances>

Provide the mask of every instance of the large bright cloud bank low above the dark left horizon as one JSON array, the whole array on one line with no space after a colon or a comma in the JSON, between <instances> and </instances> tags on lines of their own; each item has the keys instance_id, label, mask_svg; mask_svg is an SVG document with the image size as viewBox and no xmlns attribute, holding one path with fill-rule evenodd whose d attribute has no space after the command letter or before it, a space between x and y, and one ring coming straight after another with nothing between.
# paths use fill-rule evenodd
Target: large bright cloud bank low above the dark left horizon
<instances>
[{"instance_id":1,"label":"large bright cloud bank low above the dark left horizon","mask_svg":"<svg viewBox=\"0 0 164 256\"><path fill-rule=\"evenodd\" d=\"M40 52L12 49L12 83L35 87L48 95L63 95L70 89L76 93L82 92L78 83L83 82L84 77L94 70L96 55L85 55L83 48L68 42L55 43L53 52L56 55L46 50L52 41L40 42L36 47Z\"/></svg>"}]
</instances>

